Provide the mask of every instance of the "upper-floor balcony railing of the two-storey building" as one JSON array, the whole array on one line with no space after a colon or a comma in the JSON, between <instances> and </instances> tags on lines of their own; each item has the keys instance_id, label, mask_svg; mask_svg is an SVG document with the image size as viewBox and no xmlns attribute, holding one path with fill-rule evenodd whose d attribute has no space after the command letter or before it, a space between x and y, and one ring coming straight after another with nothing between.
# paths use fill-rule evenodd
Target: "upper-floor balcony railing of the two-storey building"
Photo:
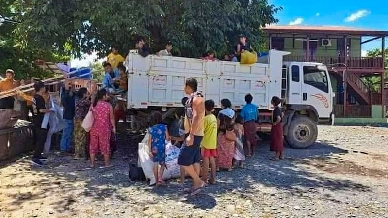
<instances>
[{"instance_id":1,"label":"upper-floor balcony railing of the two-storey building","mask_svg":"<svg viewBox=\"0 0 388 218\"><path fill-rule=\"evenodd\" d=\"M307 62L307 56L284 56L284 61ZM311 56L309 62L318 62L325 65L345 63L350 68L383 68L383 58L371 57L333 57L333 56Z\"/></svg>"}]
</instances>

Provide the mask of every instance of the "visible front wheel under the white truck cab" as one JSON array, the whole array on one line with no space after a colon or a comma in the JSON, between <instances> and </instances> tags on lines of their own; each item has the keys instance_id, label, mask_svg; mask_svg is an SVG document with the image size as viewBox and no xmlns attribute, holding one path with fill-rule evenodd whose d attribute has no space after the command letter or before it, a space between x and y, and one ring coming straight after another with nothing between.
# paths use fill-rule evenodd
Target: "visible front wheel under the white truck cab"
<instances>
[{"instance_id":1,"label":"visible front wheel under the white truck cab","mask_svg":"<svg viewBox=\"0 0 388 218\"><path fill-rule=\"evenodd\" d=\"M307 116L297 115L291 120L286 136L287 143L296 149L310 147L317 140L317 125Z\"/></svg>"}]
</instances>

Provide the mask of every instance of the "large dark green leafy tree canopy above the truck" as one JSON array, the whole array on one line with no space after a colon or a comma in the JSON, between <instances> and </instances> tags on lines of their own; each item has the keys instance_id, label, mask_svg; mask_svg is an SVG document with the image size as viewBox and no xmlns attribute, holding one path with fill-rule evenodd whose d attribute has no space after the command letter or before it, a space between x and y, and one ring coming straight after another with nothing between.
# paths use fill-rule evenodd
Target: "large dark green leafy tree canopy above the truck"
<instances>
[{"instance_id":1,"label":"large dark green leafy tree canopy above the truck","mask_svg":"<svg viewBox=\"0 0 388 218\"><path fill-rule=\"evenodd\" d=\"M276 23L281 8L267 0L14 0L22 12L15 31L22 47L51 49L80 57L106 55L113 44L126 54L137 36L154 51L166 41L173 52L198 57L209 49L218 55L235 46L244 33L260 46L260 28Z\"/></svg>"}]
</instances>

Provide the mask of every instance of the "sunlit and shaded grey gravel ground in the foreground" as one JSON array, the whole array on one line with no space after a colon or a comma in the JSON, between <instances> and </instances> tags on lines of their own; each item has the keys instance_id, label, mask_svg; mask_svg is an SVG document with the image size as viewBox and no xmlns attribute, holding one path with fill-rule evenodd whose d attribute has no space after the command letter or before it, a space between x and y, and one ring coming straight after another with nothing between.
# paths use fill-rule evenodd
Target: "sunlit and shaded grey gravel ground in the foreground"
<instances>
[{"instance_id":1,"label":"sunlit and shaded grey gravel ground in the foreground","mask_svg":"<svg viewBox=\"0 0 388 218\"><path fill-rule=\"evenodd\" d=\"M388 128L320 126L307 150L286 147L272 162L259 141L245 169L217 174L217 184L195 197L190 186L129 182L136 140L120 133L113 168L52 154L44 167L28 156L0 165L0 217L93 218L385 218L388 217ZM102 164L102 161L99 162Z\"/></svg>"}]
</instances>

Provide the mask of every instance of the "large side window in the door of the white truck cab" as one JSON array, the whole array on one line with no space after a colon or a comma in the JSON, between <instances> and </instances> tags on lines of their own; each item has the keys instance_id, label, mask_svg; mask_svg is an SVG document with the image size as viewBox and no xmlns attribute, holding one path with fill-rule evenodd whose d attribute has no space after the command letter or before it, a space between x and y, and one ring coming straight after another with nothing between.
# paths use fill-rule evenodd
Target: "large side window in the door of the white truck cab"
<instances>
[{"instance_id":1,"label":"large side window in the door of the white truck cab","mask_svg":"<svg viewBox=\"0 0 388 218\"><path fill-rule=\"evenodd\" d=\"M314 86L325 93L329 93L327 75L324 70L315 66L303 67L303 82L307 85Z\"/></svg>"}]
</instances>

